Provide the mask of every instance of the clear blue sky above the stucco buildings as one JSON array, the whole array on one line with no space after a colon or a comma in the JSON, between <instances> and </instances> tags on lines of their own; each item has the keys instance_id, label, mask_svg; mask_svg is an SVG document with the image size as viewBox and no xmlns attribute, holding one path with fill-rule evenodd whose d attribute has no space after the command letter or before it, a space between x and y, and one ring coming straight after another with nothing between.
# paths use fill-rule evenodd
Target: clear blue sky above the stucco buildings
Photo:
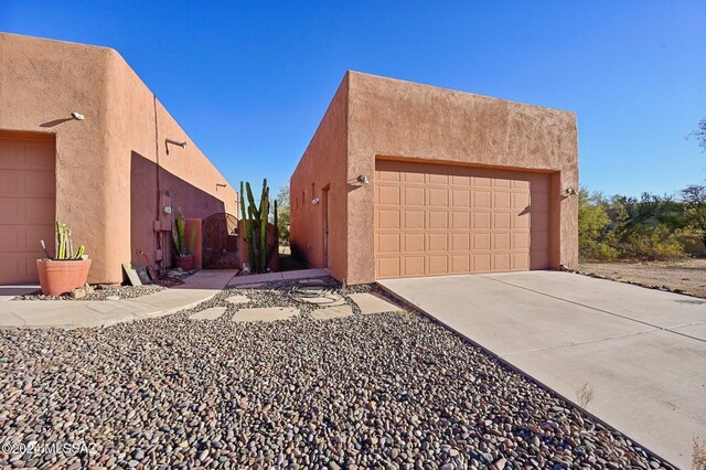
<instances>
[{"instance_id":1,"label":"clear blue sky above the stucco buildings","mask_svg":"<svg viewBox=\"0 0 706 470\"><path fill-rule=\"evenodd\" d=\"M575 111L591 190L706 178L703 0L3 0L0 31L118 50L233 184L287 184L346 70Z\"/></svg>"}]
</instances>

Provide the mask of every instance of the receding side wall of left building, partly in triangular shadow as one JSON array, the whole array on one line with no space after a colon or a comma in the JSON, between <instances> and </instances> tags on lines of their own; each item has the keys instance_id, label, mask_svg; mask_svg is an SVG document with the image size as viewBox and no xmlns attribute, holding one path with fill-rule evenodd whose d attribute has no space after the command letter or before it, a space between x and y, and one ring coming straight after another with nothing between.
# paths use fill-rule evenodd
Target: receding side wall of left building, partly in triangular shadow
<instances>
[{"instance_id":1,"label":"receding side wall of left building, partly in triangular shadow","mask_svg":"<svg viewBox=\"0 0 706 470\"><path fill-rule=\"evenodd\" d=\"M119 201L111 226L120 227L115 249L120 258L142 265L145 259L138 252L147 253L154 263L161 246L164 266L170 266L171 235L163 232L156 239L153 231L153 221L162 211L159 194L169 193L174 214L181 210L186 218L206 218L216 212L237 217L237 192L127 62L109 51L107 149L110 171L118 178L108 183ZM186 148L167 145L167 138L185 141ZM124 210L126 203L128 211Z\"/></svg>"}]
</instances>

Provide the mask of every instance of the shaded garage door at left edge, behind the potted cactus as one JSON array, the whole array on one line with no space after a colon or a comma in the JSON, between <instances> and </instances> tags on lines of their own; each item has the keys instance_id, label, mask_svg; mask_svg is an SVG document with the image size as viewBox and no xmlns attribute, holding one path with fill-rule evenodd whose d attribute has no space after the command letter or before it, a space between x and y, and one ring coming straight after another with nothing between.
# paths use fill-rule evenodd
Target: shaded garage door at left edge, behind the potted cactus
<instances>
[{"instance_id":1,"label":"shaded garage door at left edge, behind the potted cactus","mask_svg":"<svg viewBox=\"0 0 706 470\"><path fill-rule=\"evenodd\" d=\"M36 284L40 239L54 246L54 142L0 136L0 285Z\"/></svg>"}]
</instances>

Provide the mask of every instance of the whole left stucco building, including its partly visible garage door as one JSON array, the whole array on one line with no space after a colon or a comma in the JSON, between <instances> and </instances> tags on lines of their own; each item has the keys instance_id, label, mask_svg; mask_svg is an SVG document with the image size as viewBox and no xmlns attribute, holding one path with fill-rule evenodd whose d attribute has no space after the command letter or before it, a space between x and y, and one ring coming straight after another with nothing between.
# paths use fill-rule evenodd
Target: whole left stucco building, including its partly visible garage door
<instances>
[{"instance_id":1,"label":"whole left stucco building, including its partly visible garage door","mask_svg":"<svg viewBox=\"0 0 706 470\"><path fill-rule=\"evenodd\" d=\"M86 246L89 282L121 282L139 252L170 266L172 209L237 214L237 193L125 60L0 34L0 285L36 282L56 218Z\"/></svg>"}]
</instances>

